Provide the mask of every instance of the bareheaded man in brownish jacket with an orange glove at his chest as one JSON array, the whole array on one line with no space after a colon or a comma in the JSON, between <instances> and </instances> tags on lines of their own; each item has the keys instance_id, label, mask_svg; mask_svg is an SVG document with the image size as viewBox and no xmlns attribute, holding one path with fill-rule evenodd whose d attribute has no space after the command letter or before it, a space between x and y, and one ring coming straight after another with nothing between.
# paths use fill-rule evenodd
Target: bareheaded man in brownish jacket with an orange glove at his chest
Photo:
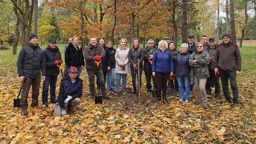
<instances>
[{"instance_id":1,"label":"bareheaded man in brownish jacket with an orange glove at his chest","mask_svg":"<svg viewBox=\"0 0 256 144\"><path fill-rule=\"evenodd\" d=\"M103 95L104 99L110 99L106 95L106 87L104 76L102 72L102 63L99 66L95 62L99 62L102 57L105 56L104 48L97 44L96 37L90 38L90 44L84 49L84 59L86 61L86 70L89 76L89 85L90 85L90 92L91 98L95 99L95 85L94 85L94 76L96 75L97 79L99 80L100 87L101 87L101 94Z\"/></svg>"}]
</instances>

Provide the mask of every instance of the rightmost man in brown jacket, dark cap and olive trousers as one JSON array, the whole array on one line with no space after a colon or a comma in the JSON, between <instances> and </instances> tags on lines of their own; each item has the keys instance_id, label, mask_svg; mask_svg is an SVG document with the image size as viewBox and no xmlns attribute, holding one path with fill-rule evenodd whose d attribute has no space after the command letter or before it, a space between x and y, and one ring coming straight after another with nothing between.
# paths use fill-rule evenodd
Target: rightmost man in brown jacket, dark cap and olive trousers
<instances>
[{"instance_id":1,"label":"rightmost man in brown jacket, dark cap and olive trousers","mask_svg":"<svg viewBox=\"0 0 256 144\"><path fill-rule=\"evenodd\" d=\"M222 84L223 93L227 103L231 103L229 93L229 81L233 93L234 106L239 106L238 103L238 87L237 76L240 74L242 67L241 54L236 43L230 41L229 33L222 35L223 42L218 45L215 62L214 72L220 72L220 80Z\"/></svg>"}]
</instances>

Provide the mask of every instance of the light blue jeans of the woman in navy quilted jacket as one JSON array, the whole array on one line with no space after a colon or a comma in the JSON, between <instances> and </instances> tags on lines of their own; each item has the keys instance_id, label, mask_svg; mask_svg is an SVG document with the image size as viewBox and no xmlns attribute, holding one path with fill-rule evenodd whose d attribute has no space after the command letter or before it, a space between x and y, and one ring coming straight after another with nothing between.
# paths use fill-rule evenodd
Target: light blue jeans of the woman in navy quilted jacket
<instances>
[{"instance_id":1,"label":"light blue jeans of the woman in navy quilted jacket","mask_svg":"<svg viewBox=\"0 0 256 144\"><path fill-rule=\"evenodd\" d=\"M184 76L178 76L178 83L179 83L179 95L180 99L184 99L184 88L186 92L186 100L189 100L189 95L190 95L190 86L189 86L189 77L184 77Z\"/></svg>"}]
</instances>

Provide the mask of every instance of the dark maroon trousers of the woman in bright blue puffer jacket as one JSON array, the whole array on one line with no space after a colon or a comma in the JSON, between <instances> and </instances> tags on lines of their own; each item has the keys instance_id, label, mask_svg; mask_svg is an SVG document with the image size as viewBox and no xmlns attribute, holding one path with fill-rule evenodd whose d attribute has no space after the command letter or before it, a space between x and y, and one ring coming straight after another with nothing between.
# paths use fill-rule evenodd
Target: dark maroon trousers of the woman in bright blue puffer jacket
<instances>
[{"instance_id":1,"label":"dark maroon trousers of the woman in bright blue puffer jacket","mask_svg":"<svg viewBox=\"0 0 256 144\"><path fill-rule=\"evenodd\" d=\"M157 80L157 97L161 97L161 93L163 91L163 98L166 98L166 90L167 90L167 80L170 73L163 72L155 72L155 77Z\"/></svg>"}]
</instances>

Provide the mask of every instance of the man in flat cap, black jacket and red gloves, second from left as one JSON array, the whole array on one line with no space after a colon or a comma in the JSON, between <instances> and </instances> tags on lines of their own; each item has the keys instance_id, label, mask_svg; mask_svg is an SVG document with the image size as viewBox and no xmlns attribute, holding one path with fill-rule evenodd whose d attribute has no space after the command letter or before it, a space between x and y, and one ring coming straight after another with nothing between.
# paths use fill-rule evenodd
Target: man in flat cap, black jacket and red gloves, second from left
<instances>
[{"instance_id":1,"label":"man in flat cap, black jacket and red gloves, second from left","mask_svg":"<svg viewBox=\"0 0 256 144\"><path fill-rule=\"evenodd\" d=\"M50 85L50 100L51 103L56 103L57 100L55 99L55 89L56 89L56 82L57 77L60 73L57 64L60 65L62 63L61 60L61 53L59 48L56 46L56 39L51 38L48 41L48 46L43 51L45 56L45 63L46 63L46 81L44 81L43 91L42 91L42 102L43 108L48 107L48 89Z\"/></svg>"}]
</instances>

